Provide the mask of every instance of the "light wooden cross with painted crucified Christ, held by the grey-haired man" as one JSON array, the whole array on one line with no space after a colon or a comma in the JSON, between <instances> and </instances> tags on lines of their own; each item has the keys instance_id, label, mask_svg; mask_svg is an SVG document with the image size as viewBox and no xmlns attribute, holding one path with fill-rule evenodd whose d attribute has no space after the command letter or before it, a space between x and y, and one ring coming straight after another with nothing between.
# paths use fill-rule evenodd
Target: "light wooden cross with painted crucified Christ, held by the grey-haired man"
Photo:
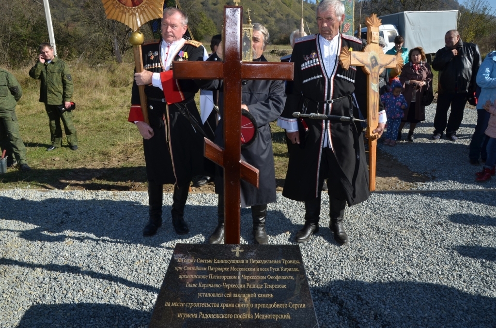
<instances>
[{"instance_id":1,"label":"light wooden cross with painted crucified Christ, held by the grey-haired man","mask_svg":"<svg viewBox=\"0 0 496 328\"><path fill-rule=\"evenodd\" d=\"M379 74L384 68L396 68L401 72L403 58L398 52L394 55L384 55L379 46L379 26L380 19L375 14L367 17L367 46L363 52L355 52L344 47L339 55L339 60L344 69L350 65L362 66L362 70L367 74L367 138L369 138L369 190L375 190L375 157L377 148L377 133L372 134L372 130L379 123Z\"/></svg>"}]
</instances>

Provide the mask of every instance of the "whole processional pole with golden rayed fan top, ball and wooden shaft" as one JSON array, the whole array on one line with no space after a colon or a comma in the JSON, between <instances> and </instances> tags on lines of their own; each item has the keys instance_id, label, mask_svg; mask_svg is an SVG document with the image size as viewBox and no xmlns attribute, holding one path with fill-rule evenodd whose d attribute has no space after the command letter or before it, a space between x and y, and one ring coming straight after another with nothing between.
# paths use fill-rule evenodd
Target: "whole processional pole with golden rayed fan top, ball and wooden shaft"
<instances>
[{"instance_id":1,"label":"whole processional pole with golden rayed fan top, ball and wooden shaft","mask_svg":"<svg viewBox=\"0 0 496 328\"><path fill-rule=\"evenodd\" d=\"M134 64L136 72L142 72L141 45L145 38L143 33L139 32L139 27L152 19L162 18L164 0L102 0L102 2L107 19L115 19L129 26L132 30L129 33L129 42L134 52ZM148 123L145 87L141 85L138 88L141 111L145 122Z\"/></svg>"}]
</instances>

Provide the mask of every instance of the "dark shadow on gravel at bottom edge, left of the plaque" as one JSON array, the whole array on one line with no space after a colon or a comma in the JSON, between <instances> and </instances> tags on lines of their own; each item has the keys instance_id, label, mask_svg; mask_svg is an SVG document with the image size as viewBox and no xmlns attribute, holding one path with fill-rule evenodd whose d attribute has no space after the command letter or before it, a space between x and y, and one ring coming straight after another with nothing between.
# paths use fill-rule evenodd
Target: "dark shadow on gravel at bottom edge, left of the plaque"
<instances>
[{"instance_id":1,"label":"dark shadow on gravel at bottom edge, left of the plaque","mask_svg":"<svg viewBox=\"0 0 496 328\"><path fill-rule=\"evenodd\" d=\"M38 304L22 317L19 328L148 327L151 313L112 304Z\"/></svg>"}]
</instances>

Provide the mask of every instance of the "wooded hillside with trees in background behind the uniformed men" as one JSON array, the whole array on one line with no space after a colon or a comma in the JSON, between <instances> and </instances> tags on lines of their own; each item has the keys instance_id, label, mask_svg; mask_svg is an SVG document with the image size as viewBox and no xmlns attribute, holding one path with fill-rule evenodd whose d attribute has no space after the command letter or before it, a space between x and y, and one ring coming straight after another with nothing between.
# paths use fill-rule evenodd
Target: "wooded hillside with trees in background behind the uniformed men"
<instances>
[{"instance_id":1,"label":"wooded hillside with trees in background behind the uniformed men","mask_svg":"<svg viewBox=\"0 0 496 328\"><path fill-rule=\"evenodd\" d=\"M172 1L171 4L174 4ZM221 33L226 0L178 0L189 16L191 33L195 40L210 42ZM243 0L244 22L250 9L252 23L265 25L275 44L289 44L289 35L300 26L302 2L299 0ZM67 60L85 60L100 64L124 55L130 45L124 24L105 18L101 0L53 0L50 2L58 56ZM48 30L43 1L0 0L0 64L20 66L31 63L38 46L48 42ZM317 31L315 4L303 2L306 30ZM153 38L148 24L141 30L147 39ZM116 53L118 49L119 55Z\"/></svg>"}]
</instances>

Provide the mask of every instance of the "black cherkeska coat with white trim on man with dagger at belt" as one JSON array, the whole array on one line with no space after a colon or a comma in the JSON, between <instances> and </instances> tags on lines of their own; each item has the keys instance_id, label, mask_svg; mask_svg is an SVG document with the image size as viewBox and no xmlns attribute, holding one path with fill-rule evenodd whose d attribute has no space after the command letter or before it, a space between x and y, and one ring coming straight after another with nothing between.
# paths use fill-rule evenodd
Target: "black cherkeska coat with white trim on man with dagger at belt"
<instances>
[{"instance_id":1,"label":"black cherkeska coat with white trim on man with dagger at belt","mask_svg":"<svg viewBox=\"0 0 496 328\"><path fill-rule=\"evenodd\" d=\"M327 78L323 64L320 63L321 50L318 35L310 35L299 39L295 45L291 61L295 63L294 82L281 120L296 121L294 112L319 112L332 115L359 117L359 110L352 99L356 97L359 108L364 116L367 114L367 85L366 76L361 69L351 66L348 70L339 64L341 49L345 46L353 51L361 51L362 42L359 39L341 35L339 51L336 54L334 73ZM355 97L352 96L355 94ZM351 95L350 97L346 97ZM342 98L333 104L323 104L329 99ZM320 102L320 103L319 103ZM381 106L381 105L379 105ZM346 199L349 205L365 201L369 195L369 174L365 157L362 127L358 123L330 122L305 119L309 127L308 137L301 140L301 145L290 144L290 159L288 172L284 184L283 196L297 201L311 201L320 198L319 184L321 176L322 151L324 134L332 146L335 160L329 162L338 165L329 165L325 172L329 178L329 194L340 190L335 196ZM326 151L328 154L328 152ZM329 158L327 157L326 160ZM331 182L331 183L329 183ZM334 185L332 185L334 184Z\"/></svg>"}]
</instances>

